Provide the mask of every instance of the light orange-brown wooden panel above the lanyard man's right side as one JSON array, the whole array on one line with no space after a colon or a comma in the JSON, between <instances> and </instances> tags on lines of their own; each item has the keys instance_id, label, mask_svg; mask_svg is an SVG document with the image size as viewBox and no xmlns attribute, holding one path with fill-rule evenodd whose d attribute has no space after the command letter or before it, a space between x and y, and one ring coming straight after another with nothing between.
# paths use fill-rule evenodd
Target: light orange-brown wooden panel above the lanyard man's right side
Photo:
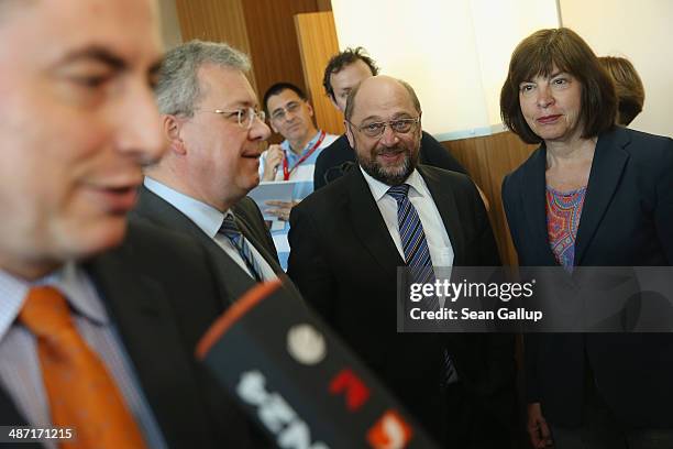
<instances>
[{"instance_id":1,"label":"light orange-brown wooden panel above the lanyard man's right side","mask_svg":"<svg viewBox=\"0 0 673 449\"><path fill-rule=\"evenodd\" d=\"M316 111L318 128L332 134L343 133L343 116L332 106L322 88L322 75L330 57L339 53L332 12L295 15L304 79Z\"/></svg>"}]
</instances>

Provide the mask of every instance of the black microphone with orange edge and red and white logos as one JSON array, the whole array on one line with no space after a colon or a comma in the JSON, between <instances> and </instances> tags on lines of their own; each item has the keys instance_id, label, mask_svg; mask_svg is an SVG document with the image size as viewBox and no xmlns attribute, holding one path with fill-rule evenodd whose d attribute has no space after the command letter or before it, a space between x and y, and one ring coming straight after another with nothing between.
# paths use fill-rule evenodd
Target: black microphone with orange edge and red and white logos
<instances>
[{"instance_id":1,"label":"black microphone with orange edge and red and white logos","mask_svg":"<svg viewBox=\"0 0 673 449\"><path fill-rule=\"evenodd\" d=\"M220 316L196 357L280 448L438 447L278 280Z\"/></svg>"}]
</instances>

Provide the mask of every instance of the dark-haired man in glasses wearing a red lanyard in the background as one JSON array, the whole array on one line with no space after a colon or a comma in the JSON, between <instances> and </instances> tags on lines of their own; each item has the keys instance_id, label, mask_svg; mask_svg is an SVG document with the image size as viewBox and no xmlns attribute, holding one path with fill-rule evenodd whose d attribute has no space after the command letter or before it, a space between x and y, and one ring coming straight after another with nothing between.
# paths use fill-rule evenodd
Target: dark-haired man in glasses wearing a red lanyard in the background
<instances>
[{"instance_id":1,"label":"dark-haired man in glasses wearing a red lanyard in the background","mask_svg":"<svg viewBox=\"0 0 673 449\"><path fill-rule=\"evenodd\" d=\"M273 227L272 234L284 270L287 270L289 245L289 212L293 206L313 191L313 167L320 152L329 146L336 135L318 130L313 124L313 108L306 94L290 83L276 83L264 95L264 108L272 129L283 135L280 144L269 145L260 160L262 180L297 182L293 201L268 201L273 208L266 213L284 221L283 227ZM276 229L278 228L278 229Z\"/></svg>"}]
</instances>

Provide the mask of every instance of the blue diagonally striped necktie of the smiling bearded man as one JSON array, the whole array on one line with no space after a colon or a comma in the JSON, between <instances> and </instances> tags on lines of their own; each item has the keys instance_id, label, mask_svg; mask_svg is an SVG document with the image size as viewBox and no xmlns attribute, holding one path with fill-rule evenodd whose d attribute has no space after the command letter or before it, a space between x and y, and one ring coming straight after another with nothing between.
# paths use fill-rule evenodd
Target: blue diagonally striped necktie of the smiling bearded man
<instances>
[{"instance_id":1,"label":"blue diagonally striped necktie of the smiling bearded man","mask_svg":"<svg viewBox=\"0 0 673 449\"><path fill-rule=\"evenodd\" d=\"M393 186L388 189L388 195L397 201L397 226L405 253L405 264L409 267L411 281L434 284L435 277L432 271L432 259L430 258L428 240L426 240L426 231L423 231L423 225L416 208L409 201L409 185ZM437 296L427 297L424 308L427 310L439 310L439 298ZM457 373L446 350L444 350L443 358L444 370L441 383L445 386L457 380Z\"/></svg>"}]
</instances>

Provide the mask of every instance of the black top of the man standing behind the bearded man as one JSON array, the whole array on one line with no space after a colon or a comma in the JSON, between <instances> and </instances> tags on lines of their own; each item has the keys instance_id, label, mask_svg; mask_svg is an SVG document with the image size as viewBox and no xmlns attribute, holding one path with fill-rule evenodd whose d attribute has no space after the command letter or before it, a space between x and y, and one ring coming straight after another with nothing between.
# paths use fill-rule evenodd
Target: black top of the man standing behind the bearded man
<instances>
[{"instance_id":1,"label":"black top of the man standing behind the bearded man","mask_svg":"<svg viewBox=\"0 0 673 449\"><path fill-rule=\"evenodd\" d=\"M421 134L421 147L418 157L420 164L467 174L460 162L432 135L424 131ZM344 171L341 169L341 166L345 162L355 163L355 152L349 144L346 135L342 134L318 155L316 168L313 169L313 190L318 190L328 183L343 176Z\"/></svg>"}]
</instances>

